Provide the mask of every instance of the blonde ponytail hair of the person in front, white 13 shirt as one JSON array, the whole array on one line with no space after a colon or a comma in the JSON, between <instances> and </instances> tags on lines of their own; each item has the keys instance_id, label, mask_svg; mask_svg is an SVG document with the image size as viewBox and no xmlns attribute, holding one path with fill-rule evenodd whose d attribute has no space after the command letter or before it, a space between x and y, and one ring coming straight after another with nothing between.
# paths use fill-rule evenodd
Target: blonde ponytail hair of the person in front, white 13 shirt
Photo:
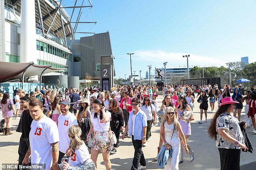
<instances>
[{"instance_id":1,"label":"blonde ponytail hair of the person in front, white 13 shirt","mask_svg":"<svg viewBox=\"0 0 256 170\"><path fill-rule=\"evenodd\" d=\"M72 125L67 130L69 137L72 139L70 148L71 148L71 156L75 153L77 149L81 147L83 144L83 141L80 139L80 136L82 134L82 131L78 125Z\"/></svg>"}]
</instances>

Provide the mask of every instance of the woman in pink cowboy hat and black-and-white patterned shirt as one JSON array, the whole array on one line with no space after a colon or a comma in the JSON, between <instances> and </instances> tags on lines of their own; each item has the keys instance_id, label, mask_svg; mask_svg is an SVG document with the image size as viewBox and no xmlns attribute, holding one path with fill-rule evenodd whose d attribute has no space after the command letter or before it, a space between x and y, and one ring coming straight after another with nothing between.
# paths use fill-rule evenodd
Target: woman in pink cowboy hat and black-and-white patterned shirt
<instances>
[{"instance_id":1,"label":"woman in pink cowboy hat and black-and-white patterned shirt","mask_svg":"<svg viewBox=\"0 0 256 170\"><path fill-rule=\"evenodd\" d=\"M246 151L248 148L239 127L240 122L232 116L233 114L231 115L238 102L231 97L223 98L221 102L211 121L208 133L216 140L216 147L220 153L220 170L239 170L241 149ZM246 128L246 124L243 128Z\"/></svg>"}]
</instances>

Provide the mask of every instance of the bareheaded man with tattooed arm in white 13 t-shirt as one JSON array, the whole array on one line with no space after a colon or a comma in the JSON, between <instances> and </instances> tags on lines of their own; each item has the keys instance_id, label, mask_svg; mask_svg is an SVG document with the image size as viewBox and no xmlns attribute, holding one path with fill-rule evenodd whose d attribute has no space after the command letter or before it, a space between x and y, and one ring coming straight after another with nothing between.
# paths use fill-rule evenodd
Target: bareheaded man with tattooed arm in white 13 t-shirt
<instances>
[{"instance_id":1,"label":"bareheaded man with tattooed arm in white 13 t-shirt","mask_svg":"<svg viewBox=\"0 0 256 170\"><path fill-rule=\"evenodd\" d=\"M29 102L29 113L34 119L29 132L29 149L22 164L45 164L46 170L59 170L59 134L57 124L43 113L43 102L35 98ZM33 168L32 168L33 169Z\"/></svg>"}]
</instances>

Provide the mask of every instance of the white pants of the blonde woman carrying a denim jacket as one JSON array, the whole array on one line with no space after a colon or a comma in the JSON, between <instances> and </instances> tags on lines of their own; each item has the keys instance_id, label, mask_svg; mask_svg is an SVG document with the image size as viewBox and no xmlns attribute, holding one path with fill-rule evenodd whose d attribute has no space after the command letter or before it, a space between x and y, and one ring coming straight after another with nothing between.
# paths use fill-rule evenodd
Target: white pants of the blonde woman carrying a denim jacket
<instances>
[{"instance_id":1,"label":"white pants of the blonde woman carrying a denim jacket","mask_svg":"<svg viewBox=\"0 0 256 170\"><path fill-rule=\"evenodd\" d=\"M167 165L164 166L165 170L178 170L178 161L180 154L180 139L179 138L166 138L166 142L172 147L172 158L168 158Z\"/></svg>"}]
</instances>

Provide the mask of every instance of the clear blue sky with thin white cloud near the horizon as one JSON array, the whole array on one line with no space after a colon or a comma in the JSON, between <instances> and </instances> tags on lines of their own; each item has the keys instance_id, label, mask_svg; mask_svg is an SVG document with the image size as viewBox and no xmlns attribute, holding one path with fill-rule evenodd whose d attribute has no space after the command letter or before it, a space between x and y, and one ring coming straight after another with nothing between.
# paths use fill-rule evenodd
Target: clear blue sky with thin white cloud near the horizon
<instances>
[{"instance_id":1,"label":"clear blue sky with thin white cloud near the horizon","mask_svg":"<svg viewBox=\"0 0 256 170\"><path fill-rule=\"evenodd\" d=\"M189 66L226 66L245 56L256 61L255 0L92 0L92 5L83 17L97 24L79 31L110 32L115 78L130 75L126 53L135 53L132 71L142 70L142 77L147 65L187 66L182 57L187 54Z\"/></svg>"}]
</instances>

